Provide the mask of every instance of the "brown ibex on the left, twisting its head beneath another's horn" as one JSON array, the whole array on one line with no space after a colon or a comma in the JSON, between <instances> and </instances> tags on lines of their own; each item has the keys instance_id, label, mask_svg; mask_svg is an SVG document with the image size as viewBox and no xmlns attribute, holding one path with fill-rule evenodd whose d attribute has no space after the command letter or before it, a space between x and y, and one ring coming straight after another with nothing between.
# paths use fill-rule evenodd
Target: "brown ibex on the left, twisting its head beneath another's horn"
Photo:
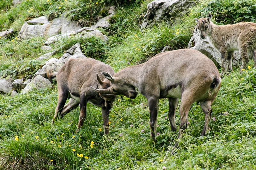
<instances>
[{"instance_id":1,"label":"brown ibex on the left, twisting its head beneath another's horn","mask_svg":"<svg viewBox=\"0 0 256 170\"><path fill-rule=\"evenodd\" d=\"M116 95L99 94L90 88L90 86L100 89L110 87L110 81L101 75L102 71L107 71L111 75L114 75L114 71L109 65L92 58L72 58L60 68L56 75L59 93L58 105L52 123L54 123L54 119L57 116L63 117L80 105L79 122L77 125L79 129L83 126L86 117L86 104L89 102L97 107L101 107L104 134L108 134L109 110L113 107L113 101L116 99ZM54 75L50 77L54 77ZM71 98L65 105L68 97Z\"/></svg>"}]
</instances>

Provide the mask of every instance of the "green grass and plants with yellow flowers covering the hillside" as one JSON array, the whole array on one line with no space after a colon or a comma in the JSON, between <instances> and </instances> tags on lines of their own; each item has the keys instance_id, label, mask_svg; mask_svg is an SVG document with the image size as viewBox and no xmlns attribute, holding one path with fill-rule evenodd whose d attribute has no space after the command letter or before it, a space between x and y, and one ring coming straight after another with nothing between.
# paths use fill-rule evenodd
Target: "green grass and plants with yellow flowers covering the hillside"
<instances>
[{"instance_id":1,"label":"green grass and plants with yellow flowers covering the hillside","mask_svg":"<svg viewBox=\"0 0 256 170\"><path fill-rule=\"evenodd\" d=\"M109 38L107 43L74 36L51 45L57 51L53 57L60 58L80 42L86 56L108 63L115 72L145 62L165 46L171 50L187 48L196 24L194 18L209 12L217 24L255 22L256 17L255 0L200 0L180 18L181 24L161 23L141 32L150 1L98 2L24 0L13 7L11 0L1 1L0 31L13 28L14 33L0 38L0 77L28 78L47 61L36 60L43 55L40 46L46 37L15 39L24 21L42 15L52 19L66 12L70 19L90 26L106 15L108 6L115 5L117 13L110 19L111 28L100 28ZM249 65L252 67L252 61ZM91 104L87 105L87 117L79 132L75 133L79 108L51 125L58 97L56 84L52 89L15 97L0 95L0 169L256 169L256 69L251 67L242 72L234 69L222 79L205 137L200 137L202 109L197 103L192 105L190 125L173 155L171 149L178 133L170 128L167 99L160 100L160 134L152 141L148 103L142 95L134 100L117 97L109 115L108 136L103 133L101 108ZM176 124L180 124L179 106Z\"/></svg>"}]
</instances>

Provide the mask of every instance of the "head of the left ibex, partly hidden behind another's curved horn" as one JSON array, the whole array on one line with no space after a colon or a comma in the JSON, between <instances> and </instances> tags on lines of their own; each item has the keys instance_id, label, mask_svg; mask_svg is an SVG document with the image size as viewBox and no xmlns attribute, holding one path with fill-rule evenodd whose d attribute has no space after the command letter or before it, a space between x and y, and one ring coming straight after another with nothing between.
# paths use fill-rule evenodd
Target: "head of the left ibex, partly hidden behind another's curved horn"
<instances>
[{"instance_id":1,"label":"head of the left ibex, partly hidden behind another's curved horn","mask_svg":"<svg viewBox=\"0 0 256 170\"><path fill-rule=\"evenodd\" d=\"M111 84L110 84L110 81L108 79L105 79L104 81L102 81L99 74L97 74L96 77L97 77L97 80L100 84L100 89L101 90L108 89L110 87ZM105 100L105 104L104 104L105 107L107 109L111 109L113 107L113 101L116 100L116 95L111 94L111 93L110 94L101 94L101 93L99 93L99 94L100 94L100 97Z\"/></svg>"}]
</instances>

